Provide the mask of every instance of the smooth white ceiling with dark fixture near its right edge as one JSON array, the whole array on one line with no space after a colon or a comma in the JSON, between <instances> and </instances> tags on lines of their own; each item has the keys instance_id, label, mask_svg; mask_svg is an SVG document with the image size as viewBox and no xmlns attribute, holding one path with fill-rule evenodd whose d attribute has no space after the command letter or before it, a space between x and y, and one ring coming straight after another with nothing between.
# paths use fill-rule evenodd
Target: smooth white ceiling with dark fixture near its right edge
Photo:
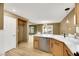
<instances>
[{"instance_id":1,"label":"smooth white ceiling with dark fixture near its right edge","mask_svg":"<svg viewBox=\"0 0 79 59\"><path fill-rule=\"evenodd\" d=\"M74 8L74 3L6 3L5 10L33 23L58 23ZM66 13L65 8L70 8Z\"/></svg>"}]
</instances>

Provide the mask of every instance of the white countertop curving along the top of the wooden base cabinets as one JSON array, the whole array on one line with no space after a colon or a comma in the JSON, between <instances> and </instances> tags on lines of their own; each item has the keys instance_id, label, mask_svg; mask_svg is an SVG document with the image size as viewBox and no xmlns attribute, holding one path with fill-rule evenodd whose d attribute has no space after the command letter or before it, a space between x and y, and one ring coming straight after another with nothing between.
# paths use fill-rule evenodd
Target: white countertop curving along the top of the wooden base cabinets
<instances>
[{"instance_id":1,"label":"white countertop curving along the top of the wooden base cabinets","mask_svg":"<svg viewBox=\"0 0 79 59\"><path fill-rule=\"evenodd\" d=\"M72 53L79 52L79 39L74 37L64 37L63 35L52 35L52 34L36 34L34 36L54 38L61 42L64 42Z\"/></svg>"}]
</instances>

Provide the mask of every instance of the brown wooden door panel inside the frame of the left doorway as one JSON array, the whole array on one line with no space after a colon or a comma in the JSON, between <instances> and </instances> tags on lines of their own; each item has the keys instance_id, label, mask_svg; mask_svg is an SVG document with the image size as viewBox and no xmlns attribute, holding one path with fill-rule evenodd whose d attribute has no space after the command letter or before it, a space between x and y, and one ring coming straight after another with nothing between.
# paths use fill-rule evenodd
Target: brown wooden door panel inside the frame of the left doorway
<instances>
[{"instance_id":1,"label":"brown wooden door panel inside the frame of the left doorway","mask_svg":"<svg viewBox=\"0 0 79 59\"><path fill-rule=\"evenodd\" d=\"M25 24L26 22L18 19L18 43L26 41L25 39Z\"/></svg>"}]
</instances>

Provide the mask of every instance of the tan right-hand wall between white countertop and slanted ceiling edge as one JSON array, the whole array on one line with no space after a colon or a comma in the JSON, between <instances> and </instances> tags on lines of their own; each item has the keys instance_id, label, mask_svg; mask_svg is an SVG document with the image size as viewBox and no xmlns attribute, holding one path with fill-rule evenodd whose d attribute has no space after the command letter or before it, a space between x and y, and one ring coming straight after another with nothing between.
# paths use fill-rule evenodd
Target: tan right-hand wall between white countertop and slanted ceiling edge
<instances>
[{"instance_id":1,"label":"tan right-hand wall between white countertop and slanted ceiling edge","mask_svg":"<svg viewBox=\"0 0 79 59\"><path fill-rule=\"evenodd\" d=\"M60 33L75 33L75 27L74 27L74 14L75 14L75 9L73 9L60 23ZM69 20L69 23L67 22L67 19Z\"/></svg>"}]
</instances>

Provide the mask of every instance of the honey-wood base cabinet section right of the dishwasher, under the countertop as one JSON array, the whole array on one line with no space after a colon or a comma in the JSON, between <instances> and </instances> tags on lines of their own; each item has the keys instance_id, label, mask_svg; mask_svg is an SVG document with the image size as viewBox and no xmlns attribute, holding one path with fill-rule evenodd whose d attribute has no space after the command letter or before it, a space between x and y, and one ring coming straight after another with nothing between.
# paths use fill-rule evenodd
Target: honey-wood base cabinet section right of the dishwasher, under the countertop
<instances>
[{"instance_id":1,"label":"honey-wood base cabinet section right of the dishwasher, under the countertop","mask_svg":"<svg viewBox=\"0 0 79 59\"><path fill-rule=\"evenodd\" d=\"M64 44L64 42L58 41L56 39L50 40L50 52L54 56L73 56L72 52Z\"/></svg>"}]
</instances>

